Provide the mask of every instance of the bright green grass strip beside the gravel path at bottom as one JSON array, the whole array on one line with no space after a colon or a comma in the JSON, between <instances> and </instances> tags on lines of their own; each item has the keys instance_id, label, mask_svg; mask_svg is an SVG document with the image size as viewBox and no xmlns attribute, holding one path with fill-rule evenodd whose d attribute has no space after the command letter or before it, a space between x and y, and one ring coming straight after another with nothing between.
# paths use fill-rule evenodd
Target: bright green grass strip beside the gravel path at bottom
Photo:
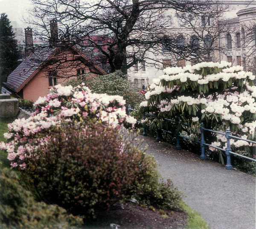
<instances>
[{"instance_id":1,"label":"bright green grass strip beside the gravel path at bottom","mask_svg":"<svg viewBox=\"0 0 256 229\"><path fill-rule=\"evenodd\" d=\"M201 215L186 205L182 203L184 211L188 214L188 221L186 229L210 229L207 222L201 217Z\"/></svg>"}]
</instances>

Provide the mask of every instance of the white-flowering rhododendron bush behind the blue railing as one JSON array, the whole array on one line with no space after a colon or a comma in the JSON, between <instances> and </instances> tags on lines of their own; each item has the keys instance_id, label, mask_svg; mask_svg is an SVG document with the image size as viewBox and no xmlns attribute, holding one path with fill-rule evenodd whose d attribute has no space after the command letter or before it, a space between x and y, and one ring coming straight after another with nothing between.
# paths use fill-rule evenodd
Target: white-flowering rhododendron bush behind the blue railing
<instances>
[{"instance_id":1,"label":"white-flowering rhododendron bush behind the blue railing","mask_svg":"<svg viewBox=\"0 0 256 229\"><path fill-rule=\"evenodd\" d=\"M230 128L235 136L255 139L256 86L255 76L241 66L228 62L203 62L193 66L172 67L164 70L145 94L147 101L140 104L140 112L151 112L158 117L178 118L192 128L179 125L187 136L199 135L200 123L212 130L224 132ZM151 128L166 128L166 122L154 116L144 122ZM167 127L169 128L169 127ZM224 136L207 133L207 143L225 148ZM231 139L231 148L253 156L251 143ZM211 150L214 150L213 148ZM254 152L255 154L255 152Z\"/></svg>"}]
</instances>

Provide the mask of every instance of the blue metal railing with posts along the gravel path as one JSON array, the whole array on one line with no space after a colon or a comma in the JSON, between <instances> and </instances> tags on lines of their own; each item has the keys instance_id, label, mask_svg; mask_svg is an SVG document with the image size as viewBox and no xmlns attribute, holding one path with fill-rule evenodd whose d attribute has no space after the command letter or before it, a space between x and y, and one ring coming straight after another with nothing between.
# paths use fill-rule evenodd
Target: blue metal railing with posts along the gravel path
<instances>
[{"instance_id":1,"label":"blue metal railing with posts along the gravel path","mask_svg":"<svg viewBox=\"0 0 256 229\"><path fill-rule=\"evenodd\" d=\"M131 109L131 106L128 105L128 115L131 115L131 111L134 111L134 112L138 112L138 113L139 113L139 110ZM153 115L153 114L151 114L151 113L143 113L143 120L145 120L145 116L146 116L146 115L148 115L148 116L154 116L154 117L156 117L156 118L159 118L158 116ZM164 120L170 121L170 122L174 122L176 126L180 123L177 119L172 120L172 119L166 119L166 118L162 118L162 117L161 117L161 119L164 119ZM137 122L138 122L138 121L137 121ZM143 136L147 136L146 125L145 125L144 123L142 123L142 122L138 122L138 123L143 124ZM189 126L189 124L187 124L187 123L181 123L181 124L186 125L186 126ZM225 154L226 154L226 156L227 156L227 163L226 163L226 165L225 165L225 168L228 169L228 170L230 170L230 169L233 168L233 166L231 165L231 157L230 157L231 154L236 155L236 156L238 156L238 157L243 157L243 158L245 158L245 159L248 159L248 160L251 160L251 161L256 162L256 159L253 159L253 158L250 158L250 157L246 157L246 156L241 155L241 154L236 154L235 152L232 152L232 151L231 151L231 148L230 148L230 139L238 139L238 140L243 140L243 141L246 141L246 142L249 142L249 143L256 144L255 141L247 140L247 139L242 139L242 138L233 136L233 135L231 135L231 131L230 131L229 128L226 130L226 133L221 133L221 132L218 132L218 131L215 131L215 130L206 129L206 128L204 128L204 123L203 123L203 122L201 123L201 128L200 128L200 129L201 129L201 139L200 139L200 141L195 141L195 142L200 143L200 146L201 146L201 155L200 155L200 158L201 158L201 159L206 159L206 158L207 158L207 156L206 156L206 154L205 154L205 146L208 146L208 147L213 147L213 148L215 148L215 149L218 149L218 150L220 150L220 151L224 151L224 152L225 152ZM164 131L164 132L166 132L166 133L172 133L171 131L168 131L168 130L156 128L156 135L157 135L156 140L157 140L157 141L160 141L160 131ZM226 149L222 149L222 148L219 148L219 147L217 147L217 146L207 144L207 143L205 142L205 140L204 140L204 132L205 132L205 131L209 131L209 132L212 132L212 133L217 133L217 134L224 135L224 136L226 137L226 139L227 139L227 148L226 148ZM190 138L188 138L188 137L185 137L185 136L180 135L180 134L178 133L178 131L175 133L175 135L176 135L176 146L175 146L176 149L181 149L181 147L180 147L180 137L181 137L181 138L184 138L184 139L192 140L192 139L190 139Z\"/></svg>"}]
</instances>

